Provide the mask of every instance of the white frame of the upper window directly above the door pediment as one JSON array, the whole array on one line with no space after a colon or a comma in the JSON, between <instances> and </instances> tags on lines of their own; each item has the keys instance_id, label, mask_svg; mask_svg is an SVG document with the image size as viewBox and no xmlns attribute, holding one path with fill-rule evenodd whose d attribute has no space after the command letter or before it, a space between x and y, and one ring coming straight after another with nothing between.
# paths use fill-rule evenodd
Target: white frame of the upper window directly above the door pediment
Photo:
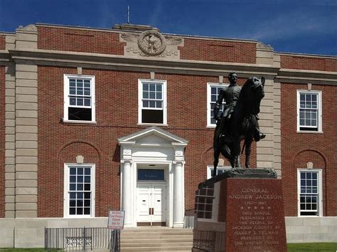
<instances>
[{"instance_id":1,"label":"white frame of the upper window directly above the door pediment","mask_svg":"<svg viewBox=\"0 0 337 252\"><path fill-rule=\"evenodd\" d=\"M151 123L143 123L141 122L141 111L143 109L143 82L146 83L154 83L154 84L162 84L162 91L163 91L163 124L151 124ZM139 79L138 80L138 124L139 125L161 125L167 126L167 92L166 92L167 82L166 80L145 80ZM156 109L154 109L156 110Z\"/></svg>"}]
</instances>

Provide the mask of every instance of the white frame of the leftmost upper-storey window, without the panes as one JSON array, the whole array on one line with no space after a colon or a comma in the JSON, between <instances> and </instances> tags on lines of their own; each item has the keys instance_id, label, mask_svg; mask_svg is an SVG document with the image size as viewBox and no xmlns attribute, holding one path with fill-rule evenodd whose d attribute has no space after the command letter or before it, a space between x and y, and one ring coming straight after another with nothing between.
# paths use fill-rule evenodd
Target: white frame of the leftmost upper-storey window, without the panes
<instances>
[{"instance_id":1,"label":"white frame of the leftmost upper-storey window, without the panes","mask_svg":"<svg viewBox=\"0 0 337 252\"><path fill-rule=\"evenodd\" d=\"M68 115L68 108L69 104L69 85L70 79L87 79L90 80L90 92L91 92L91 121L85 120L69 120ZM95 124L96 123L96 101L95 101L95 76L92 75L63 75L63 83L64 83L64 90L63 90L63 121L66 123L77 123L77 124ZM86 106L83 106L86 107Z\"/></svg>"}]
</instances>

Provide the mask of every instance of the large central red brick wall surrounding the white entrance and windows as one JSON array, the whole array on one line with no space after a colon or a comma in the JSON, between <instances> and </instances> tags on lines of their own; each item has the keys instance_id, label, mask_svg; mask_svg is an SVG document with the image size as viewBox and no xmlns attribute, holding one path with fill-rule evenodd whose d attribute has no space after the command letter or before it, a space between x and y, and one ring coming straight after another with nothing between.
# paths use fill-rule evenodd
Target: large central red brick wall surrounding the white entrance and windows
<instances>
[{"instance_id":1,"label":"large central red brick wall surrounding the white entrance and windows","mask_svg":"<svg viewBox=\"0 0 337 252\"><path fill-rule=\"evenodd\" d=\"M38 67L38 217L63 216L63 165L75 163L76 155L97 165L96 216L106 216L108 209L120 206L117 138L146 128L137 126L138 79L149 78L149 73L84 69L83 75L95 75L97 125L60 123L64 73L76 70ZM169 126L163 128L189 141L186 209L193 209L195 190L206 179L206 165L213 164L213 129L206 128L206 83L218 78L156 74L156 79L167 80ZM253 148L252 165L256 165L255 153Z\"/></svg>"}]
</instances>

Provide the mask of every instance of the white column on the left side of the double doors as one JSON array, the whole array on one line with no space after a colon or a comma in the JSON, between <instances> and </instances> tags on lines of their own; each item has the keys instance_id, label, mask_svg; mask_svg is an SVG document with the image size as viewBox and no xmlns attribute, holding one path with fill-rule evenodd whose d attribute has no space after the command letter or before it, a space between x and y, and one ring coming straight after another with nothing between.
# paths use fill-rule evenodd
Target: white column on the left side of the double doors
<instances>
[{"instance_id":1,"label":"white column on the left side of the double doors","mask_svg":"<svg viewBox=\"0 0 337 252\"><path fill-rule=\"evenodd\" d=\"M132 226L132 163L131 160L121 160L122 163L122 210L125 211L124 225Z\"/></svg>"}]
</instances>

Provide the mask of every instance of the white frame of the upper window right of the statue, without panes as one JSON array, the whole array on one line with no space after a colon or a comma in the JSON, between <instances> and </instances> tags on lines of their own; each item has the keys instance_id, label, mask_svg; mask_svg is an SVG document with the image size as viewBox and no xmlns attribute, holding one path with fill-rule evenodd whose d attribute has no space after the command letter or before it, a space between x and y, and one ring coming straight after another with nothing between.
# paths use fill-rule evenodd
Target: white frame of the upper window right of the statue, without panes
<instances>
[{"instance_id":1,"label":"white frame of the upper window right of the statue, without panes","mask_svg":"<svg viewBox=\"0 0 337 252\"><path fill-rule=\"evenodd\" d=\"M300 95L301 94L317 94L317 131L301 130L299 124ZM322 131L322 92L317 90L297 90L297 132L298 133L323 133Z\"/></svg>"}]
</instances>

